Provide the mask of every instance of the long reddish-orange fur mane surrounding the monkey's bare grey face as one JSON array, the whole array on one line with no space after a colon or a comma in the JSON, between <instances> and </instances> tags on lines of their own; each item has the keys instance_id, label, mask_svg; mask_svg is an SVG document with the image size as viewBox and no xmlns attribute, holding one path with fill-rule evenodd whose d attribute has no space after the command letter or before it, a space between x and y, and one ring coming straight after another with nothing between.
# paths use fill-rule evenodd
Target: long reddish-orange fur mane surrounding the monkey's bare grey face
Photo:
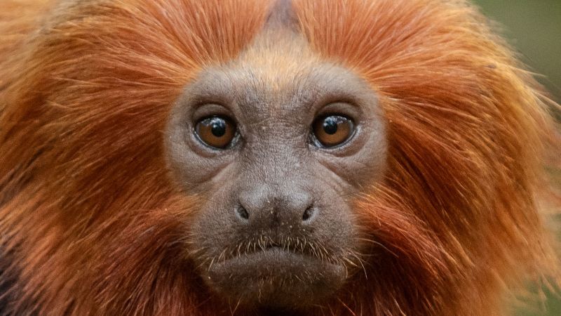
<instances>
[{"instance_id":1,"label":"long reddish-orange fur mane surrounding the monkey's bare grey face","mask_svg":"<svg viewBox=\"0 0 561 316\"><path fill-rule=\"evenodd\" d=\"M184 265L196 199L169 180L162 131L185 84L248 46L270 4L4 2L0 244L19 275L11 310L250 313ZM313 315L496 315L506 289L555 274L536 211L553 131L545 98L480 15L454 0L297 0L295 12L319 55L377 91L391 147L386 180L356 200L385 251L373 244L365 273Z\"/></svg>"}]
</instances>

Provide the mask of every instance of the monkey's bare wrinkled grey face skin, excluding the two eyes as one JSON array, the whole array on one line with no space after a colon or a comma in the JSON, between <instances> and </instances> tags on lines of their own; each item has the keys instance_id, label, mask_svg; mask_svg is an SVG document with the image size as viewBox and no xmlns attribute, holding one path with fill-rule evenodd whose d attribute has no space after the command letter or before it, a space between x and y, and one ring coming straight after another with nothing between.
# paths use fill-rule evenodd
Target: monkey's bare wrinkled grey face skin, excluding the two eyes
<instances>
[{"instance_id":1,"label":"monkey's bare wrinkled grey face skin, excluding the two eyes","mask_svg":"<svg viewBox=\"0 0 561 316\"><path fill-rule=\"evenodd\" d=\"M313 139L318 117L352 119L342 145ZM229 117L225 149L196 136L198 121ZM294 32L269 29L238 59L208 67L184 90L166 131L168 163L188 195L189 257L219 296L262 308L326 300L360 252L352 198L381 179L384 121L377 96L350 70L320 62Z\"/></svg>"}]
</instances>

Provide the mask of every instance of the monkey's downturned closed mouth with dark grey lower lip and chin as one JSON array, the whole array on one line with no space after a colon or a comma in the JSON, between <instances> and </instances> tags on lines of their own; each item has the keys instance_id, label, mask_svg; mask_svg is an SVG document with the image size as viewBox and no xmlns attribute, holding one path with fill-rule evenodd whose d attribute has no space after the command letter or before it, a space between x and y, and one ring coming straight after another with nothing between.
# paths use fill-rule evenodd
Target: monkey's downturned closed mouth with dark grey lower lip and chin
<instances>
[{"instance_id":1,"label":"monkey's downturned closed mouth with dark grey lower lip and chin","mask_svg":"<svg viewBox=\"0 0 561 316\"><path fill-rule=\"evenodd\" d=\"M210 266L205 282L222 296L251 305L306 306L334 294L344 265L271 243Z\"/></svg>"}]
</instances>

